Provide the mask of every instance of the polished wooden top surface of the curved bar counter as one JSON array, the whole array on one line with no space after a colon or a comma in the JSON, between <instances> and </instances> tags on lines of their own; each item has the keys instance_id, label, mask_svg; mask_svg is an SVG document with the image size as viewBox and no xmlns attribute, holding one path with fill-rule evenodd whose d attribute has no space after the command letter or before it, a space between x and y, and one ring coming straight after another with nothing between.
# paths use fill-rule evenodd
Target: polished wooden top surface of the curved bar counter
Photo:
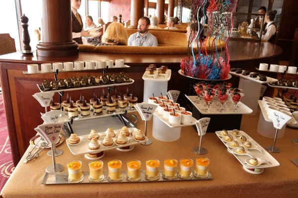
<instances>
[{"instance_id":1,"label":"polished wooden top surface of the curved bar counter","mask_svg":"<svg viewBox=\"0 0 298 198\"><path fill-rule=\"evenodd\" d=\"M272 63L279 61L282 49L279 46L268 42L255 43L247 41L228 42L230 54L230 64L232 67L247 67L260 62ZM86 61L86 60L106 60L124 59L128 65L140 65L150 63L179 63L182 57L187 54L121 54L121 53L91 53L80 51L78 56L69 57L42 57L33 55L23 55L15 52L0 56L0 62L12 63L44 63L44 62L65 62L65 61ZM222 55L224 57L224 53ZM244 64L244 65L243 65Z\"/></svg>"}]
</instances>

